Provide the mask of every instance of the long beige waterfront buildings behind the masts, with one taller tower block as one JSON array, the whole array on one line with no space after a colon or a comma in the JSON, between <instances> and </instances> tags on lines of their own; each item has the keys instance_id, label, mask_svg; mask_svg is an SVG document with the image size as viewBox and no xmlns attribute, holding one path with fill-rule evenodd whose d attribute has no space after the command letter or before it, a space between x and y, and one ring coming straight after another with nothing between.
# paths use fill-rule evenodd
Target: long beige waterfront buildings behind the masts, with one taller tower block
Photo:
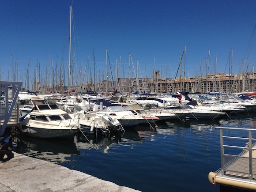
<instances>
[{"instance_id":1,"label":"long beige waterfront buildings behind the masts, with one taller tower block","mask_svg":"<svg viewBox=\"0 0 256 192\"><path fill-rule=\"evenodd\" d=\"M38 90L39 82L34 83L34 90ZM256 72L241 73L239 75L229 75L224 73L209 74L204 76L193 76L186 78L163 78L161 79L161 71L154 71L153 78L118 78L117 81L102 80L95 83L90 79L89 83L84 83L81 86L72 87L75 91L87 92L105 92L115 91L120 93L130 92L146 92L146 93L161 93L161 92L244 92L255 91L256 87ZM95 90L94 90L95 88ZM63 92L67 90L67 86L61 82L57 86L43 86L40 88L43 92L52 90Z\"/></svg>"}]
</instances>

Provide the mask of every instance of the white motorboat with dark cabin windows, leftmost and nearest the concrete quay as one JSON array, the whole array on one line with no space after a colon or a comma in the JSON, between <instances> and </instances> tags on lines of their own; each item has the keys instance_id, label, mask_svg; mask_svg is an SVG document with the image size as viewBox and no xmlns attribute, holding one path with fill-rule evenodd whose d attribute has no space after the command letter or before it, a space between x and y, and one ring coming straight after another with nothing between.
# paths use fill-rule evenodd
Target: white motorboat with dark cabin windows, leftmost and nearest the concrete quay
<instances>
[{"instance_id":1,"label":"white motorboat with dark cabin windows, leftmost and nearest the concrete quay","mask_svg":"<svg viewBox=\"0 0 256 192\"><path fill-rule=\"evenodd\" d=\"M79 127L79 123L56 104L45 104L35 105L20 118L19 132L32 137L66 138L74 136Z\"/></svg>"}]
</instances>

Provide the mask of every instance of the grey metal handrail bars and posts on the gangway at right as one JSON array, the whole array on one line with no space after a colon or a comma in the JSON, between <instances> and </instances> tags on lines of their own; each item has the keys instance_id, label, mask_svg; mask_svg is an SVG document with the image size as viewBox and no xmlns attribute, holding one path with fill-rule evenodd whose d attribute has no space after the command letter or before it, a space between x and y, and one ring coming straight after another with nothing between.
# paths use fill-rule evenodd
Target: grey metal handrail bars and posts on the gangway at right
<instances>
[{"instance_id":1,"label":"grey metal handrail bars and posts on the gangway at right","mask_svg":"<svg viewBox=\"0 0 256 192\"><path fill-rule=\"evenodd\" d=\"M256 140L256 139L252 138L252 132L256 131L256 129L255 128L227 128L227 127L215 127L215 128L220 130L221 175L222 176L225 175L225 172L224 172L224 147L248 149L248 151L249 151L249 180L252 181L252 149L255 149L255 148L252 148L252 140ZM248 138L223 136L223 130L248 131ZM224 145L224 141L223 141L224 138L248 140L248 147Z\"/></svg>"}]
</instances>

